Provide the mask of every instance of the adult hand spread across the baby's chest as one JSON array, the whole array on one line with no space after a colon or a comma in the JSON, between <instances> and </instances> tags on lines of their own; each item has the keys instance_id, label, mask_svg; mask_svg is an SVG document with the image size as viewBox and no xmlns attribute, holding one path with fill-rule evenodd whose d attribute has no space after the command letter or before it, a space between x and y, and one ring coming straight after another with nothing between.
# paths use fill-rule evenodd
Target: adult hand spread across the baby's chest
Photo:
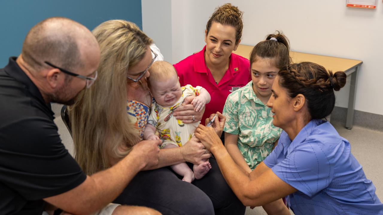
<instances>
[{"instance_id":1,"label":"adult hand spread across the baby's chest","mask_svg":"<svg viewBox=\"0 0 383 215\"><path fill-rule=\"evenodd\" d=\"M205 108L202 109L202 111L197 112L194 111L194 106L191 104L191 101L196 98L195 96L188 96L183 100L183 103L181 106L176 108L174 110L173 116L175 116L176 119L182 120L183 123L189 124L196 121L200 121L202 119L203 112L205 112ZM194 116L194 121L193 121Z\"/></svg>"}]
</instances>

